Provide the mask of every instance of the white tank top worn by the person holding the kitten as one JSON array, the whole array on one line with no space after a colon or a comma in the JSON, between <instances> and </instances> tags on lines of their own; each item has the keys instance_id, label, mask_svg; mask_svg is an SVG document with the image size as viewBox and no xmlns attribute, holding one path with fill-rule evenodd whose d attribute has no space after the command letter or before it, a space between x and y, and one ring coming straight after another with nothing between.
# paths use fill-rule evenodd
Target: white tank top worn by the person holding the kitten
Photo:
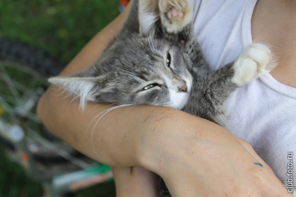
<instances>
[{"instance_id":1,"label":"white tank top worn by the person holding the kitten","mask_svg":"<svg viewBox=\"0 0 296 197\"><path fill-rule=\"evenodd\" d=\"M212 69L232 62L252 43L251 18L256 3L195 0L194 31ZM287 176L292 161L288 154L294 154L290 158L296 186L296 88L267 74L238 88L226 106L227 129L248 141L286 185L292 176Z\"/></svg>"}]
</instances>

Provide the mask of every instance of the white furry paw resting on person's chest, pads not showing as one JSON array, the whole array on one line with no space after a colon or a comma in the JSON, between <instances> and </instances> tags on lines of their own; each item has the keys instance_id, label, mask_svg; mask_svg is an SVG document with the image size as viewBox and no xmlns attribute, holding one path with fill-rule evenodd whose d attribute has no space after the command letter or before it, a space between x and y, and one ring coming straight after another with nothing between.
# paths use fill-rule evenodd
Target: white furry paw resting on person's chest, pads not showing
<instances>
[{"instance_id":1,"label":"white furry paw resting on person's chest, pads not showing","mask_svg":"<svg viewBox=\"0 0 296 197\"><path fill-rule=\"evenodd\" d=\"M234 62L233 83L242 86L277 66L270 50L263 44L251 44Z\"/></svg>"}]
</instances>

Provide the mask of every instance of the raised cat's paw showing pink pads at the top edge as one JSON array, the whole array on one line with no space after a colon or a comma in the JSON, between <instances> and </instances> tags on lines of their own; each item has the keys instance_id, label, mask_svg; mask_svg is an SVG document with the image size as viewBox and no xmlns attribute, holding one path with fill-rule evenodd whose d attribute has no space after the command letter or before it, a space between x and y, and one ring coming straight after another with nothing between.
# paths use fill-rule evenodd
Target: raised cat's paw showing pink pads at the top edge
<instances>
[{"instance_id":1,"label":"raised cat's paw showing pink pads at the top edge","mask_svg":"<svg viewBox=\"0 0 296 197\"><path fill-rule=\"evenodd\" d=\"M191 22L192 0L159 0L162 25L168 33L178 33Z\"/></svg>"}]
</instances>

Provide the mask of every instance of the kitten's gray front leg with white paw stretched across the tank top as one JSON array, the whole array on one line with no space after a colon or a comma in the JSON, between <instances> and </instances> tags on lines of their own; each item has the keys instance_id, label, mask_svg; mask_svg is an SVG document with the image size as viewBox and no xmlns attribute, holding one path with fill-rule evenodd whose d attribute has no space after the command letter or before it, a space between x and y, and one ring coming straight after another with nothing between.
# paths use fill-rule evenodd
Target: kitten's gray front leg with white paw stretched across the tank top
<instances>
[{"instance_id":1,"label":"kitten's gray front leg with white paw stretched across the tank top","mask_svg":"<svg viewBox=\"0 0 296 197\"><path fill-rule=\"evenodd\" d=\"M266 46L252 44L234 62L209 73L203 80L195 78L192 95L184 111L225 126L224 101L229 94L275 66Z\"/></svg>"}]
</instances>

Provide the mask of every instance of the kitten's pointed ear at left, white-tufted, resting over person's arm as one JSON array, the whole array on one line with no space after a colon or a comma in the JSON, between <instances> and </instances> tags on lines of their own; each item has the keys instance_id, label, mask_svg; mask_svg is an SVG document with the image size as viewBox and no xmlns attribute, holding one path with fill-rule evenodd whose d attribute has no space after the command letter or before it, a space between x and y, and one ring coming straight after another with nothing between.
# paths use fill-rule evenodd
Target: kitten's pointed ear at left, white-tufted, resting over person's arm
<instances>
[{"instance_id":1,"label":"kitten's pointed ear at left, white-tufted, resting over person's arm","mask_svg":"<svg viewBox=\"0 0 296 197\"><path fill-rule=\"evenodd\" d=\"M51 77L48 81L65 89L68 95L74 99L80 99L80 108L84 108L86 102L96 102L102 91L108 91L108 81L111 76L105 74L101 76L87 76L83 72L77 72L68 76ZM82 75L84 76L82 76Z\"/></svg>"}]
</instances>

